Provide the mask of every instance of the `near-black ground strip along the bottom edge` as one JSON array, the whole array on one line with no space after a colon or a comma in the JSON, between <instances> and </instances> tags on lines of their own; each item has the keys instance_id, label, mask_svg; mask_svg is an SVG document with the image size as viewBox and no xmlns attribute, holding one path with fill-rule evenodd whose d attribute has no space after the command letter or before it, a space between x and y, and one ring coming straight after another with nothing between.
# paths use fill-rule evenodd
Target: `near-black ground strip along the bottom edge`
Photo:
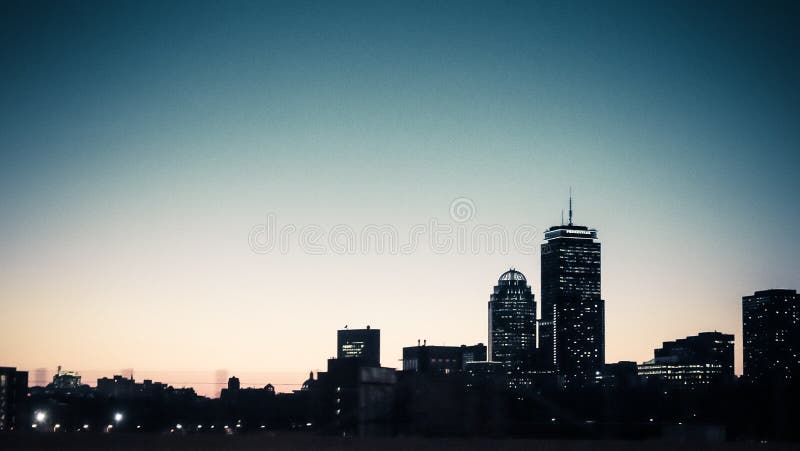
<instances>
[{"instance_id":1,"label":"near-black ground strip along the bottom edge","mask_svg":"<svg viewBox=\"0 0 800 451\"><path fill-rule=\"evenodd\" d=\"M660 451L660 450L796 450L782 443L678 443L665 441L548 441L461 438L342 439L301 434L222 435L0 435L0 450L491 450L491 451Z\"/></svg>"}]
</instances>

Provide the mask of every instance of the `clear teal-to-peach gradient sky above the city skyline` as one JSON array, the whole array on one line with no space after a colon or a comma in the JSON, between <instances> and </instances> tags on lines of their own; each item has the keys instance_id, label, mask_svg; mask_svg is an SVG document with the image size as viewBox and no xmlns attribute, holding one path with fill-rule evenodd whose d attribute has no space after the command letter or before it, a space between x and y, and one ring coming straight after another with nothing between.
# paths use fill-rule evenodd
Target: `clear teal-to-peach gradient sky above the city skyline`
<instances>
[{"instance_id":1,"label":"clear teal-to-peach gradient sky above the city skyline","mask_svg":"<svg viewBox=\"0 0 800 451\"><path fill-rule=\"evenodd\" d=\"M457 197L541 232L572 186L607 360L720 330L740 372L741 296L800 288L798 30L797 2L0 2L0 365L211 394L301 383L345 324L387 366L486 343L538 253L248 235L403 232Z\"/></svg>"}]
</instances>

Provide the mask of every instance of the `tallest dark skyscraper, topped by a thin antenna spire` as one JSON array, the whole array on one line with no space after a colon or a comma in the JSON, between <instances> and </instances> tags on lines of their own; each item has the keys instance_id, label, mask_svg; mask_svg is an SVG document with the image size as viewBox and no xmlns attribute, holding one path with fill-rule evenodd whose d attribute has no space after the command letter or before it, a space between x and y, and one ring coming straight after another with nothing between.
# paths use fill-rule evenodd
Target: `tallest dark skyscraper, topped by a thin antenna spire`
<instances>
[{"instance_id":1,"label":"tallest dark skyscraper, topped by a thin antenna spire","mask_svg":"<svg viewBox=\"0 0 800 451\"><path fill-rule=\"evenodd\" d=\"M605 364L605 306L600 297L597 230L572 223L550 227L542 243L542 313L539 351L559 383L577 388L595 380Z\"/></svg>"}]
</instances>

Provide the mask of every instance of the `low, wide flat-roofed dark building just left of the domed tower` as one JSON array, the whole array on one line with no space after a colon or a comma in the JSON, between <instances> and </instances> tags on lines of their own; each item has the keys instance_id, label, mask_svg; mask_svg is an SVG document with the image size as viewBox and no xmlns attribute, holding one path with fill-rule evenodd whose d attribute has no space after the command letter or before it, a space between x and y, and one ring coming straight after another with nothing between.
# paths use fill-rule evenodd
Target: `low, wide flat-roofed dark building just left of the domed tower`
<instances>
[{"instance_id":1,"label":"low, wide flat-roofed dark building just left of the domed tower","mask_svg":"<svg viewBox=\"0 0 800 451\"><path fill-rule=\"evenodd\" d=\"M417 346L403 348L403 371L418 373L451 373L465 368L469 362L485 361L486 346L483 343L467 346Z\"/></svg>"}]
</instances>

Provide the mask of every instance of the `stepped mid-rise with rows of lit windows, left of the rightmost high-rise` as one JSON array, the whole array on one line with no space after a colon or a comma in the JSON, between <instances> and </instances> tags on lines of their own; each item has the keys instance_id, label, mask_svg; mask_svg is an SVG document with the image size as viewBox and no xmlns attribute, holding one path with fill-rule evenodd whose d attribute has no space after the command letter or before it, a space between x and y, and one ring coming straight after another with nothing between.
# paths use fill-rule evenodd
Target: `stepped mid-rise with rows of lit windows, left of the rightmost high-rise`
<instances>
[{"instance_id":1,"label":"stepped mid-rise with rows of lit windows, left of the rightmost high-rise","mask_svg":"<svg viewBox=\"0 0 800 451\"><path fill-rule=\"evenodd\" d=\"M733 335L700 332L665 341L654 358L638 367L639 376L677 387L700 387L733 381Z\"/></svg>"}]
</instances>

